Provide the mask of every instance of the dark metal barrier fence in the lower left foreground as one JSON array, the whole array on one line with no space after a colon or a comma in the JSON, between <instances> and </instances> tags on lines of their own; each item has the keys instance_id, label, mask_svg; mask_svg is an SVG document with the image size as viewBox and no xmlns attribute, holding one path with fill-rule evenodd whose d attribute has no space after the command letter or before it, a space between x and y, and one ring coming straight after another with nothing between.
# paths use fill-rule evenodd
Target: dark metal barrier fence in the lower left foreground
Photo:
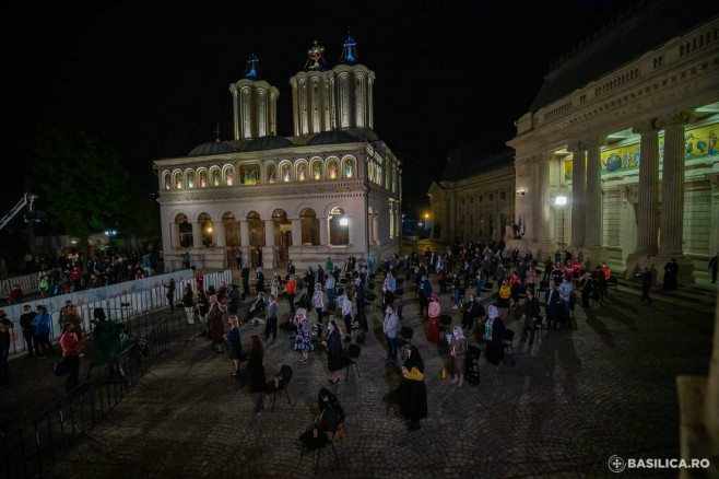
<instances>
[{"instance_id":1,"label":"dark metal barrier fence in the lower left foreground","mask_svg":"<svg viewBox=\"0 0 719 479\"><path fill-rule=\"evenodd\" d=\"M169 348L167 318L113 363L64 394L30 423L0 432L0 471L8 478L43 478L70 447L102 421ZM92 437L91 437L92 439Z\"/></svg>"}]
</instances>

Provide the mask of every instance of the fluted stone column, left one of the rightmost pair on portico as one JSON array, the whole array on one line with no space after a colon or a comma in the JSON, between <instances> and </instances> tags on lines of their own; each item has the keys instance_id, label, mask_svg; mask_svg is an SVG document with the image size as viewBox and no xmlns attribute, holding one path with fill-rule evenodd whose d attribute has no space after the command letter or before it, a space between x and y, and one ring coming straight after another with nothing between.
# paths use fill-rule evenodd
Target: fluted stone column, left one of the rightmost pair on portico
<instances>
[{"instance_id":1,"label":"fluted stone column, left one of the rightmost pair on portico","mask_svg":"<svg viewBox=\"0 0 719 479\"><path fill-rule=\"evenodd\" d=\"M637 125L633 131L641 135L637 254L653 256L657 254L659 233L659 132L655 127L653 119Z\"/></svg>"}]
</instances>

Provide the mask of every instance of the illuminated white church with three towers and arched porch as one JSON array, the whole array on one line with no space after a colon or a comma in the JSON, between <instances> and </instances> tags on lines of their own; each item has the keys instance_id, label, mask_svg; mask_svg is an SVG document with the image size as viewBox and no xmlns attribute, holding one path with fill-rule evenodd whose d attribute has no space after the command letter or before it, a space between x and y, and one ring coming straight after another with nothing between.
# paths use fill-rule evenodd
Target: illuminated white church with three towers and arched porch
<instances>
[{"instance_id":1,"label":"illuminated white church with three towers and arched porch","mask_svg":"<svg viewBox=\"0 0 719 479\"><path fill-rule=\"evenodd\" d=\"M198 267L225 267L237 247L264 268L398 252L401 162L373 129L375 74L357 65L351 37L343 47L328 69L316 42L290 80L293 137L276 135L280 92L250 56L229 85L233 140L154 162L168 266L189 253Z\"/></svg>"}]
</instances>

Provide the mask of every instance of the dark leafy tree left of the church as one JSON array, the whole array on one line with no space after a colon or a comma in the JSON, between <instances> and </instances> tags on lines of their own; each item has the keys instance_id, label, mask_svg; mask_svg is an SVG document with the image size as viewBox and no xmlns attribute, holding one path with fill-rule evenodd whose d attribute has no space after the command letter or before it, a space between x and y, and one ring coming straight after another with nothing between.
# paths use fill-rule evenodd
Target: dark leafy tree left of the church
<instances>
[{"instance_id":1,"label":"dark leafy tree left of the church","mask_svg":"<svg viewBox=\"0 0 719 479\"><path fill-rule=\"evenodd\" d=\"M127 211L127 173L114 148L84 131L42 133L32 159L33 188L44 208L85 243Z\"/></svg>"}]
</instances>

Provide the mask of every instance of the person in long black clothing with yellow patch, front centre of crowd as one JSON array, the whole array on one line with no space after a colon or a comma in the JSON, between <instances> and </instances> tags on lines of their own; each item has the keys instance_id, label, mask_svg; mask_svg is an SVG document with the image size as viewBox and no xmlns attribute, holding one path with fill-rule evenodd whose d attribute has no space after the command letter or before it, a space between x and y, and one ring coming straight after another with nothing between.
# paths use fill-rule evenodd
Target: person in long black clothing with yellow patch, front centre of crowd
<instances>
[{"instance_id":1,"label":"person in long black clothing with yellow patch, front centre of crowd","mask_svg":"<svg viewBox=\"0 0 719 479\"><path fill-rule=\"evenodd\" d=\"M402 416L409 421L408 429L416 431L420 420L427 417L427 387L424 384L424 362L416 346L410 348L402 365L399 402Z\"/></svg>"}]
</instances>

